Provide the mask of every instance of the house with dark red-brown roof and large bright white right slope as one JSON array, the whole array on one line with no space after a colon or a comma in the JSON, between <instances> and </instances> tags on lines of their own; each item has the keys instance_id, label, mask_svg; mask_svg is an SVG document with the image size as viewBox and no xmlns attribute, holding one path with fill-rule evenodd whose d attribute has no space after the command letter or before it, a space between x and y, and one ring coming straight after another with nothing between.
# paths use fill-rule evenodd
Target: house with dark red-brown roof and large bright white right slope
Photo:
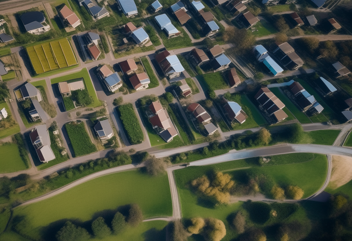
<instances>
[{"instance_id":1,"label":"house with dark red-brown roof and large bright white right slope","mask_svg":"<svg viewBox=\"0 0 352 241\"><path fill-rule=\"evenodd\" d=\"M168 50L164 50L155 55L155 60L158 62L165 75L170 79L180 76L181 72L184 70L177 56L171 55Z\"/></svg>"}]
</instances>

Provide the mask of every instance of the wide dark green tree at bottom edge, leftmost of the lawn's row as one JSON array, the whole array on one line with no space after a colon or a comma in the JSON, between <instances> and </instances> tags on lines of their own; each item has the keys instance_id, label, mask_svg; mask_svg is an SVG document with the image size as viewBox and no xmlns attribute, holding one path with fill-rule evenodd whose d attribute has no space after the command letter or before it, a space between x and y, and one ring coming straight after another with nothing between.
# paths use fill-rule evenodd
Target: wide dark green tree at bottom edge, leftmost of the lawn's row
<instances>
[{"instance_id":1,"label":"wide dark green tree at bottom edge, leftmost of the lawn's row","mask_svg":"<svg viewBox=\"0 0 352 241\"><path fill-rule=\"evenodd\" d=\"M67 221L65 225L56 233L58 241L86 241L90 239L88 231L82 227Z\"/></svg>"}]
</instances>

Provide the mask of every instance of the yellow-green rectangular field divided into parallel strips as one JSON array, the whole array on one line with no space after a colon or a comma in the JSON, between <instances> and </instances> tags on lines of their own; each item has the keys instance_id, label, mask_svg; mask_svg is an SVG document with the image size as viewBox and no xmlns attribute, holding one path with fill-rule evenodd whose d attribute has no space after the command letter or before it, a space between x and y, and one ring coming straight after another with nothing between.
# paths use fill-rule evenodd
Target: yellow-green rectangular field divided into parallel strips
<instances>
[{"instance_id":1,"label":"yellow-green rectangular field divided into parallel strips","mask_svg":"<svg viewBox=\"0 0 352 241\"><path fill-rule=\"evenodd\" d=\"M67 38L29 46L26 50L37 74L77 64Z\"/></svg>"}]
</instances>

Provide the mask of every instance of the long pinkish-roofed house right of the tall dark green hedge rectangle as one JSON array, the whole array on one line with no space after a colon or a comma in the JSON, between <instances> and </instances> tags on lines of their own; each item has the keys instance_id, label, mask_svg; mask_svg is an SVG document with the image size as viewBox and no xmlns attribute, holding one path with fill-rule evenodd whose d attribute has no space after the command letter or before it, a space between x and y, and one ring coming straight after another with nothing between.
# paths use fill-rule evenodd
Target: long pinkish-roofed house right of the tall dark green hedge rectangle
<instances>
[{"instance_id":1,"label":"long pinkish-roofed house right of the tall dark green hedge rectangle","mask_svg":"<svg viewBox=\"0 0 352 241\"><path fill-rule=\"evenodd\" d=\"M163 107L159 102L152 102L149 106L154 116L150 117L149 121L154 129L157 129L158 134L166 141L170 142L177 136L177 131L170 121L166 117Z\"/></svg>"}]
</instances>

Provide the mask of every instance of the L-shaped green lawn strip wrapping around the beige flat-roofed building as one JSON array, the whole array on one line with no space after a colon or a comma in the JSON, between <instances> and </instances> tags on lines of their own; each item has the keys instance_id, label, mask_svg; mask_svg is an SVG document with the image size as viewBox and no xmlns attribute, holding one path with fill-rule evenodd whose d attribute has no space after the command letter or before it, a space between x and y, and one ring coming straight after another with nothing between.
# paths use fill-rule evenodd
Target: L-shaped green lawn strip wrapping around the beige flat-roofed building
<instances>
[{"instance_id":1,"label":"L-shaped green lawn strip wrapping around the beige flat-roofed building","mask_svg":"<svg viewBox=\"0 0 352 241\"><path fill-rule=\"evenodd\" d=\"M76 72L73 74L68 74L65 76L61 76L58 78L51 79L50 82L51 84L57 84L58 82L63 82L63 81L68 81L68 80L73 80L73 79L78 79L78 78L83 78L84 79L84 85L86 86L89 95L93 98L93 103L87 106L84 106L86 108L89 107L98 107L101 106L100 101L98 100L98 97L96 96L95 89L93 87L92 80L90 80L90 76L88 73L87 68L83 68L80 72Z\"/></svg>"}]
</instances>

